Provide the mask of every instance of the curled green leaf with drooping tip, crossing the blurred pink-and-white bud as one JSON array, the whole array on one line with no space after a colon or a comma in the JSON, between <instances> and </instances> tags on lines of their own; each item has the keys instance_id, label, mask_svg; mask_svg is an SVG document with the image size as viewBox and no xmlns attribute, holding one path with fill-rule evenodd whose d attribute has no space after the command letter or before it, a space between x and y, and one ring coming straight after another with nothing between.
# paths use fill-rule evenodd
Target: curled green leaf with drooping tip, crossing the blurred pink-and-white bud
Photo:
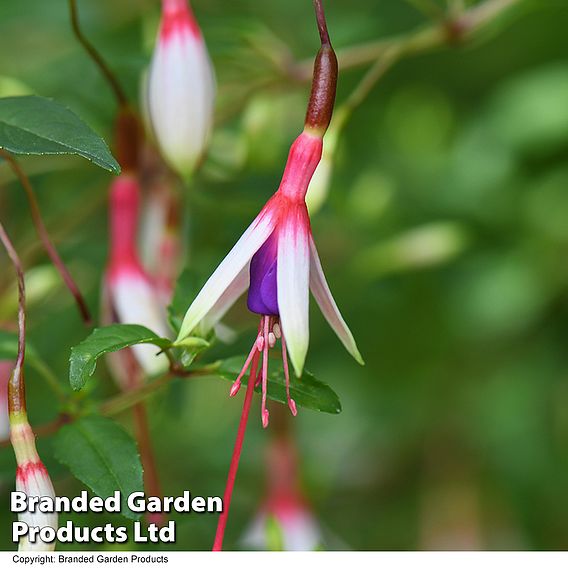
<instances>
[{"instance_id":1,"label":"curled green leaf with drooping tip, crossing the blurred pink-and-white bud","mask_svg":"<svg viewBox=\"0 0 568 568\"><path fill-rule=\"evenodd\" d=\"M85 386L87 379L95 372L97 359L101 355L140 343L151 343L160 349L171 345L169 339L159 337L141 325L114 324L95 329L87 339L71 348L69 382L73 390Z\"/></svg>"}]
</instances>

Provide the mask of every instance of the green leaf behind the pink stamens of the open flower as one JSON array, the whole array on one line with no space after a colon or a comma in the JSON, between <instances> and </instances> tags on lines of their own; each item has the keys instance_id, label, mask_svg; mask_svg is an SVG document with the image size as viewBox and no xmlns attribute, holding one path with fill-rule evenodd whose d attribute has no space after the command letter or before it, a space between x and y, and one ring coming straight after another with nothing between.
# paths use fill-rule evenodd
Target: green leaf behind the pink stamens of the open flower
<instances>
[{"instance_id":1,"label":"green leaf behind the pink stamens of the open flower","mask_svg":"<svg viewBox=\"0 0 568 568\"><path fill-rule=\"evenodd\" d=\"M214 373L222 379L234 381L242 369L245 358L243 356L231 357L223 361ZM290 396L295 400L297 406L328 412L329 414L339 414L341 412L341 402L335 391L326 383L316 379L309 371L304 371L302 378L294 376L290 369ZM246 386L248 378L243 380ZM255 390L260 392L260 386ZM286 399L286 380L282 369L269 372L268 374L268 398L287 404Z\"/></svg>"}]
</instances>

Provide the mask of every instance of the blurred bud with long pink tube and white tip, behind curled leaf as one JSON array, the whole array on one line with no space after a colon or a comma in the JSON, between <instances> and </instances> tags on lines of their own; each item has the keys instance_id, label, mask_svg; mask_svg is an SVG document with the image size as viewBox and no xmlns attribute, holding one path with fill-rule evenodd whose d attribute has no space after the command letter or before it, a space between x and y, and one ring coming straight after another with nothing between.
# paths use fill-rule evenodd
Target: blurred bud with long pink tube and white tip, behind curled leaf
<instances>
[{"instance_id":1,"label":"blurred bud with long pink tube and white tip, behind curled leaf","mask_svg":"<svg viewBox=\"0 0 568 568\"><path fill-rule=\"evenodd\" d=\"M121 174L110 188L110 260L105 275L104 302L114 322L138 324L168 335L165 312L150 277L138 258L136 238L140 189L131 174ZM165 355L150 345L135 345L132 353L146 375L168 367Z\"/></svg>"}]
</instances>

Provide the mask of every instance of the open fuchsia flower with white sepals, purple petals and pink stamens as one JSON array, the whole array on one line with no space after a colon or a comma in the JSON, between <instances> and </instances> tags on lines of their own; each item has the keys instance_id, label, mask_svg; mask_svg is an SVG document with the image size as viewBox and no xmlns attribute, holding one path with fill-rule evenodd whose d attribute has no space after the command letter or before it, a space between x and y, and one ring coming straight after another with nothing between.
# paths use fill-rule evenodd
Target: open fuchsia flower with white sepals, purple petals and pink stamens
<instances>
[{"instance_id":1,"label":"open fuchsia flower with white sepals, purple petals and pink stamens","mask_svg":"<svg viewBox=\"0 0 568 568\"><path fill-rule=\"evenodd\" d=\"M329 40L329 38L328 38ZM266 408L268 351L282 340L288 406L290 397L286 351L298 377L304 368L309 342L309 291L348 352L363 363L351 331L333 299L312 236L305 197L322 155L323 135L329 125L337 60L329 43L322 44L314 68L314 81L303 132L292 144L280 186L263 207L197 295L183 320L177 341L203 321L215 323L248 288L248 308L261 316L257 339L238 375L231 395L251 364L262 366L262 423L268 425ZM256 365L253 364L253 368Z\"/></svg>"}]
</instances>

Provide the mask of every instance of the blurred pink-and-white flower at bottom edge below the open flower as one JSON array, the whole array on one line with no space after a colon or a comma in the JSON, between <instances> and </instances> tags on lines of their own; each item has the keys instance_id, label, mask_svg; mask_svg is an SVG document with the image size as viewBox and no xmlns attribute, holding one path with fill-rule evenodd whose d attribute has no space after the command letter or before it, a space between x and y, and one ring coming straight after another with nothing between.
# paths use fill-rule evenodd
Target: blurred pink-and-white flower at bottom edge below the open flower
<instances>
[{"instance_id":1,"label":"blurred pink-and-white flower at bottom edge below the open flower","mask_svg":"<svg viewBox=\"0 0 568 568\"><path fill-rule=\"evenodd\" d=\"M321 529L299 488L297 461L290 439L284 437L271 443L267 459L268 494L243 538L246 546L270 548L271 520L278 524L283 550L316 550L321 546Z\"/></svg>"}]
</instances>

